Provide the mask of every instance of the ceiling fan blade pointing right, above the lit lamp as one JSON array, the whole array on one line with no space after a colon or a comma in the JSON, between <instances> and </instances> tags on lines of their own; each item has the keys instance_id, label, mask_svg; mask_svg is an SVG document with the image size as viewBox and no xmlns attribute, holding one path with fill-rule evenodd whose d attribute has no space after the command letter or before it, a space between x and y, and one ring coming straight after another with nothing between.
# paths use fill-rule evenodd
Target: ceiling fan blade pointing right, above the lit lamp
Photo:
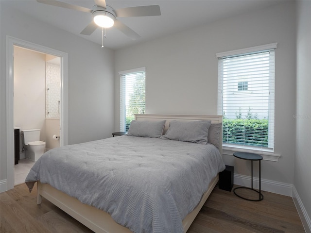
<instances>
[{"instance_id":1,"label":"ceiling fan blade pointing right, above the lit lamp","mask_svg":"<svg viewBox=\"0 0 311 233\"><path fill-rule=\"evenodd\" d=\"M134 6L115 10L117 17L160 16L161 10L158 5Z\"/></svg>"}]
</instances>

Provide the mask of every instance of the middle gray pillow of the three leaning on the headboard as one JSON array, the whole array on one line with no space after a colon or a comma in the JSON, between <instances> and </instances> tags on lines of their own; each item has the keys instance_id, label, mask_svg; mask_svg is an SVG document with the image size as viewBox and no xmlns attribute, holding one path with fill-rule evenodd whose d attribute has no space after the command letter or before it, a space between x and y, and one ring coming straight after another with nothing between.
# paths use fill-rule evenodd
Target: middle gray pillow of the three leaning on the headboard
<instances>
[{"instance_id":1,"label":"middle gray pillow of the three leaning on the headboard","mask_svg":"<svg viewBox=\"0 0 311 233\"><path fill-rule=\"evenodd\" d=\"M210 123L210 120L172 120L170 122L169 129L160 138L183 142L193 142L198 144L207 144L207 134Z\"/></svg>"}]
</instances>

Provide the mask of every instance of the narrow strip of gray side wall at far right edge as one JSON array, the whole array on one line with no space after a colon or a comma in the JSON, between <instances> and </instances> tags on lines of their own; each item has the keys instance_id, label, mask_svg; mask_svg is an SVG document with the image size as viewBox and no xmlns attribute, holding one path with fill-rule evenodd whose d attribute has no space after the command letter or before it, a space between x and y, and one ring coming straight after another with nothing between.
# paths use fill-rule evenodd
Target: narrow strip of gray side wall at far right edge
<instances>
[{"instance_id":1,"label":"narrow strip of gray side wall at far right edge","mask_svg":"<svg viewBox=\"0 0 311 233\"><path fill-rule=\"evenodd\" d=\"M311 1L297 1L296 151L294 187L311 232Z\"/></svg>"}]
</instances>

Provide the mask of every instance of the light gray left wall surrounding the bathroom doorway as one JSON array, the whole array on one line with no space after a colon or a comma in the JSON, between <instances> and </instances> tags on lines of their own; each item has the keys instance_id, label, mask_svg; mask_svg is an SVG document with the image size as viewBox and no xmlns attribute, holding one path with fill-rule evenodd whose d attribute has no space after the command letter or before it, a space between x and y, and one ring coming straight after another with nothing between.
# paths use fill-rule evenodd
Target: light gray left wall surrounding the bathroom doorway
<instances>
[{"instance_id":1,"label":"light gray left wall surrounding the bathroom doorway","mask_svg":"<svg viewBox=\"0 0 311 233\"><path fill-rule=\"evenodd\" d=\"M110 137L114 123L114 52L17 12L8 2L0 1L0 185L7 178L7 35L68 53L69 144Z\"/></svg>"}]
</instances>

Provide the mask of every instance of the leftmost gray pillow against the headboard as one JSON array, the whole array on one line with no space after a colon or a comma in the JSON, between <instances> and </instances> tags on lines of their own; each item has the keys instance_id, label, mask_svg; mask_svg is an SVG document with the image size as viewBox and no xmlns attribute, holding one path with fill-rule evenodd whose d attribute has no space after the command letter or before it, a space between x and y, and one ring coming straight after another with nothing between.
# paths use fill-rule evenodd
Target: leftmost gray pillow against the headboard
<instances>
[{"instance_id":1,"label":"leftmost gray pillow against the headboard","mask_svg":"<svg viewBox=\"0 0 311 233\"><path fill-rule=\"evenodd\" d=\"M132 120L127 135L136 137L160 137L166 120L138 121Z\"/></svg>"}]
</instances>

